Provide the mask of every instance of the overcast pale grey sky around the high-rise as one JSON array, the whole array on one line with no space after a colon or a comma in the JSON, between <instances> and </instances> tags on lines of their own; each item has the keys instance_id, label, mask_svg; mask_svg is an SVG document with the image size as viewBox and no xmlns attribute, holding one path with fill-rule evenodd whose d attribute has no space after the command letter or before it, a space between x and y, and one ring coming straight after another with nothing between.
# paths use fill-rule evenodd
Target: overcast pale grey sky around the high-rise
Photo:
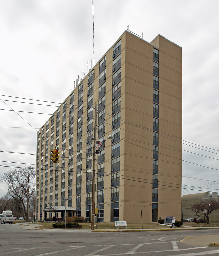
<instances>
[{"instance_id":1,"label":"overcast pale grey sky around the high-rise","mask_svg":"<svg viewBox=\"0 0 219 256\"><path fill-rule=\"evenodd\" d=\"M148 42L161 34L182 47L182 195L219 192L218 10L217 0L94 0L95 64L128 24ZM50 117L18 112L30 126L6 110L52 114L59 106L6 96L62 103L90 59L92 0L0 0L0 175L35 165L35 155L2 151L36 154L31 126Z\"/></svg>"}]
</instances>

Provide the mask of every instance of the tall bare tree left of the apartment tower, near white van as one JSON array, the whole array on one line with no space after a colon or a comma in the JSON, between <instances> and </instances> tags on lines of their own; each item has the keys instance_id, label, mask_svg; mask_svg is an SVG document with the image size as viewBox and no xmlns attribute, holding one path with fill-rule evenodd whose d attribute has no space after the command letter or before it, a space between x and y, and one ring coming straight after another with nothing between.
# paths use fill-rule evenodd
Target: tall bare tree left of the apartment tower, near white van
<instances>
[{"instance_id":1,"label":"tall bare tree left of the apartment tower, near white van","mask_svg":"<svg viewBox=\"0 0 219 256\"><path fill-rule=\"evenodd\" d=\"M6 182L6 189L10 195L20 200L26 221L29 221L29 200L35 191L35 178L36 169L31 166L9 170L1 176L1 181Z\"/></svg>"}]
</instances>

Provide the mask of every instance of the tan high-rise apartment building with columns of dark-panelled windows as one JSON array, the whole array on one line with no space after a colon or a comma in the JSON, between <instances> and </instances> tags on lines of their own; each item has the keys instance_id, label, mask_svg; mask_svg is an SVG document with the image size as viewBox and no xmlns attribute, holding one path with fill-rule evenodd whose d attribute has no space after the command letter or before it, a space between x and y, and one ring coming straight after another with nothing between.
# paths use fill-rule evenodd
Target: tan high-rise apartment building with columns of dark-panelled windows
<instances>
[{"instance_id":1,"label":"tan high-rise apartment building with columns of dark-panelled windows","mask_svg":"<svg viewBox=\"0 0 219 256\"><path fill-rule=\"evenodd\" d=\"M149 43L130 31L38 132L37 219L52 217L45 207L65 206L65 198L73 207L67 216L91 219L95 111L103 144L94 169L99 221L180 220L182 49L161 35ZM50 160L55 147L58 163Z\"/></svg>"}]
</instances>

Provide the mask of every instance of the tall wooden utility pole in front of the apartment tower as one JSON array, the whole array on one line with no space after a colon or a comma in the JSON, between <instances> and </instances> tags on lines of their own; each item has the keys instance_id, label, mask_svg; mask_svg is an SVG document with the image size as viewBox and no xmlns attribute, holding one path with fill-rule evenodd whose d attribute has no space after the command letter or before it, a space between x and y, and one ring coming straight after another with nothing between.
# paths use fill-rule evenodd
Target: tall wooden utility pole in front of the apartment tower
<instances>
[{"instance_id":1,"label":"tall wooden utility pole in front of the apartment tower","mask_svg":"<svg viewBox=\"0 0 219 256\"><path fill-rule=\"evenodd\" d=\"M94 214L95 214L95 156L96 156L96 124L97 124L97 104L95 105L95 119L94 119L94 137L93 137L93 159L92 159L92 205L91 205L91 230L94 230Z\"/></svg>"}]
</instances>

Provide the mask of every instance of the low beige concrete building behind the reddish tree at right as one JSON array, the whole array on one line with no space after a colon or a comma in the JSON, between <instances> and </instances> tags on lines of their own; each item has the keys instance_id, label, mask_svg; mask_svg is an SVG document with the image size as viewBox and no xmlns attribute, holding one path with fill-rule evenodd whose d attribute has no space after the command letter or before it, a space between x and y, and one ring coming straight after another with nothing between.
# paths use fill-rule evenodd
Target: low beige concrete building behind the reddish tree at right
<instances>
[{"instance_id":1,"label":"low beige concrete building behind the reddish tree at right","mask_svg":"<svg viewBox=\"0 0 219 256\"><path fill-rule=\"evenodd\" d=\"M206 200L219 200L219 193L216 192L203 192L197 194L189 194L182 196L182 213L183 219L195 218L195 212L190 208L199 202L205 202ZM197 216L201 219L204 219L203 212L199 212L200 216ZM219 210L213 210L209 215L209 222L219 222ZM206 219L206 218L205 218Z\"/></svg>"}]
</instances>

